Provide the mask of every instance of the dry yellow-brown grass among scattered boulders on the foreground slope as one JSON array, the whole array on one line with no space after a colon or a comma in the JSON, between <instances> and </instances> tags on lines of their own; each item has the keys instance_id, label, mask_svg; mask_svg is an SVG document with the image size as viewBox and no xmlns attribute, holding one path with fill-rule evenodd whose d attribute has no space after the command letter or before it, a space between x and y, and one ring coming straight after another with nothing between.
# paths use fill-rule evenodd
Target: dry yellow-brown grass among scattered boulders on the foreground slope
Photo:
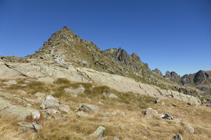
<instances>
[{"instance_id":1,"label":"dry yellow-brown grass among scattered boulders on the foreground slope","mask_svg":"<svg viewBox=\"0 0 211 140\"><path fill-rule=\"evenodd\" d=\"M71 84L71 82L67 82L61 85L54 83L53 85L46 84L44 86L51 92L58 91L62 86L71 88L73 86ZM89 114L87 117L78 117L73 112L65 116L64 119L46 119L42 130L37 133L20 133L17 126L19 120L1 116L1 139L90 140L93 139L90 134L99 126L106 128L104 136L108 137L107 140L113 140L115 136L120 140L168 140L173 139L173 136L178 133L185 140L211 139L211 109L206 106L189 106L185 102L174 99L162 100L165 103L165 106L162 106L160 103L154 104L154 98L151 97L136 95L135 93L120 93L100 85L95 86L98 92L92 92L91 87L87 85L86 90L90 91L78 97L72 97L62 92L59 96L59 101L69 105L73 111L80 103L97 105L100 108L99 113ZM18 86L16 88L8 88L8 91L15 94L17 88ZM33 88L25 88L26 92L33 92L33 90ZM119 99L106 98L102 92L113 92L119 96ZM28 95L28 97L34 98L33 95ZM99 101L104 103L104 105L98 104ZM173 106L172 103L176 106ZM156 109L159 114L170 112L174 118L181 118L182 122L176 123L160 119L159 117L148 118L143 116L142 110L149 107ZM98 119L98 117L104 117L106 112L117 112L117 115L109 116L106 119ZM121 112L124 112L125 115L122 115ZM195 133L189 134L187 126L193 127Z\"/></svg>"}]
</instances>

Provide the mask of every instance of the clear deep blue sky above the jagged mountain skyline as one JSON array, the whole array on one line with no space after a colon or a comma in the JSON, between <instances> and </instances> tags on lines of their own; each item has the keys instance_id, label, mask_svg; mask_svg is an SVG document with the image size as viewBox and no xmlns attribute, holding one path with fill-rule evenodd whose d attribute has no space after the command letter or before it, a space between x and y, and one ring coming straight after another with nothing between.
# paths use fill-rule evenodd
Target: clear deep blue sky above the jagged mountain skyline
<instances>
[{"instance_id":1,"label":"clear deep blue sky above the jagged mountain skyline","mask_svg":"<svg viewBox=\"0 0 211 140\"><path fill-rule=\"evenodd\" d=\"M163 74L211 70L211 0L0 0L0 55L33 54L63 26Z\"/></svg>"}]
</instances>

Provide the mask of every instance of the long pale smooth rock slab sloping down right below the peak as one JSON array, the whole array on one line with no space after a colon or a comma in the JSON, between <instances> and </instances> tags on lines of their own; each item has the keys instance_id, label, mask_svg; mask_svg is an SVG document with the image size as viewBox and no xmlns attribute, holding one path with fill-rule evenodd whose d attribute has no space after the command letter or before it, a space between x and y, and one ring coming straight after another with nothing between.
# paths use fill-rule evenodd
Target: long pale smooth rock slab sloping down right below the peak
<instances>
[{"instance_id":1,"label":"long pale smooth rock slab sloping down right below the peak","mask_svg":"<svg viewBox=\"0 0 211 140\"><path fill-rule=\"evenodd\" d=\"M20 73L29 77L46 77L51 76L56 78L67 78L74 82L96 82L102 85L109 86L121 92L134 92L149 95L159 99L175 98L178 100L184 100L192 102L193 104L200 104L200 100L195 97L183 95L182 93L172 90L161 90L159 87L143 84L137 82L134 79L109 74L105 72L99 72L88 68L75 68L69 65L68 69L47 65L44 63L16 63L10 64L12 69L19 71Z\"/></svg>"}]
</instances>

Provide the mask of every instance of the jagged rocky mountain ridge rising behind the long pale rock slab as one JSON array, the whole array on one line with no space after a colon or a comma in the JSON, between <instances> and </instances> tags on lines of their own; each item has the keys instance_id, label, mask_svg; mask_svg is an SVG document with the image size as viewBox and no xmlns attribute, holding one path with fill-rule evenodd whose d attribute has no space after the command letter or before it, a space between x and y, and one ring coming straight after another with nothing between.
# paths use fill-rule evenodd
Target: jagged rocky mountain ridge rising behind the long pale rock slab
<instances>
[{"instance_id":1,"label":"jagged rocky mountain ridge rising behind the long pale rock slab","mask_svg":"<svg viewBox=\"0 0 211 140\"><path fill-rule=\"evenodd\" d=\"M34 54L25 58L4 57L4 61L28 62L33 60L54 62L62 57L66 63L76 67L87 67L101 72L132 78L142 83L156 85L162 89L171 89L188 95L194 95L211 105L211 71L199 71L180 77L167 71L165 76L158 70L150 70L136 53L129 55L124 49L102 51L93 42L81 39L68 27L53 33L43 46Z\"/></svg>"}]
</instances>

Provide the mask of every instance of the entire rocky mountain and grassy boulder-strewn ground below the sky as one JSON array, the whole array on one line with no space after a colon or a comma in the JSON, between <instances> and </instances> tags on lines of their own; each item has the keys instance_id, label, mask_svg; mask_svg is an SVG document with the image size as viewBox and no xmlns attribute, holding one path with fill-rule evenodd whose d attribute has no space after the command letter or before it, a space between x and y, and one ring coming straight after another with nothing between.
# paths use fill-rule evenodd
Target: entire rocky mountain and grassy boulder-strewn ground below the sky
<instances>
[{"instance_id":1,"label":"entire rocky mountain and grassy boulder-strewn ground below the sky","mask_svg":"<svg viewBox=\"0 0 211 140\"><path fill-rule=\"evenodd\" d=\"M0 59L2 139L210 139L210 71L180 77L63 27Z\"/></svg>"}]
</instances>

